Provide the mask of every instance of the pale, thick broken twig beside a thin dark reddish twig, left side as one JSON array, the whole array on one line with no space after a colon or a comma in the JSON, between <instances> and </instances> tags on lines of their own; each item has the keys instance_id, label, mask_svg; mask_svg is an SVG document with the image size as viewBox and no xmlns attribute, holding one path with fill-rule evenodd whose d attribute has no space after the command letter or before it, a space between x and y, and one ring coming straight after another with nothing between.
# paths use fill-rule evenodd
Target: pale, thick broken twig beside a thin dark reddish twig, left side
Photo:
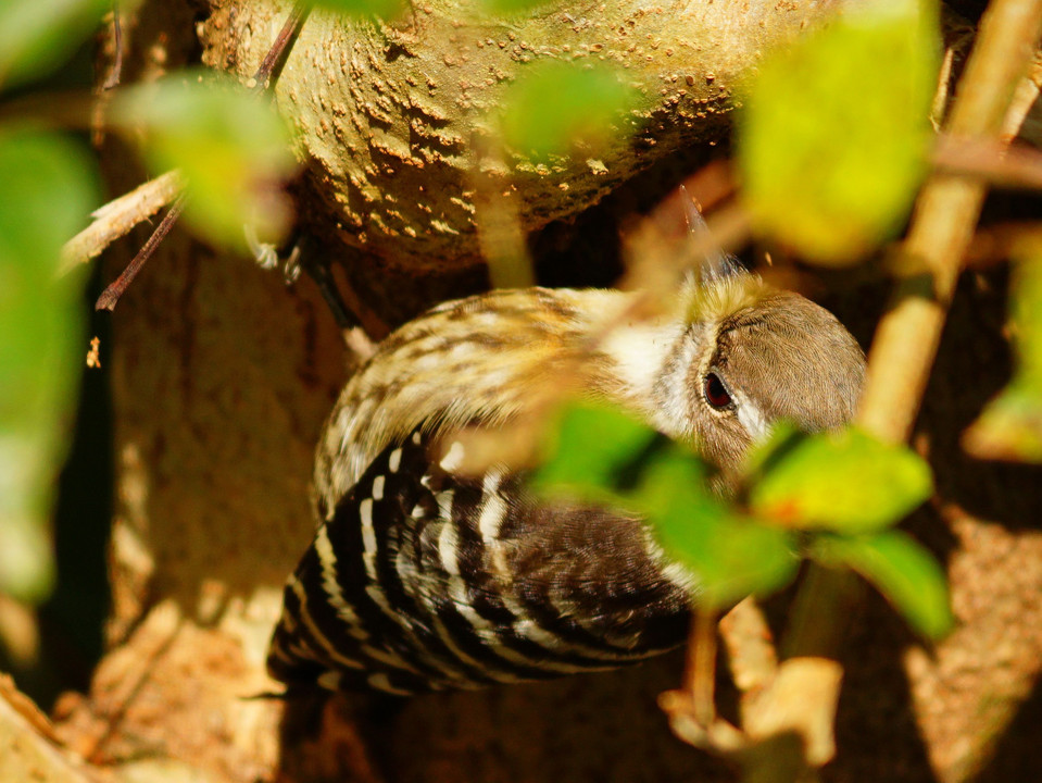
<instances>
[{"instance_id":1,"label":"pale, thick broken twig beside a thin dark reddish twig, left side","mask_svg":"<svg viewBox=\"0 0 1042 783\"><path fill-rule=\"evenodd\" d=\"M106 247L129 233L138 223L174 201L183 188L180 172L166 172L95 210L95 222L62 248L59 274L66 274L100 256Z\"/></svg>"}]
</instances>

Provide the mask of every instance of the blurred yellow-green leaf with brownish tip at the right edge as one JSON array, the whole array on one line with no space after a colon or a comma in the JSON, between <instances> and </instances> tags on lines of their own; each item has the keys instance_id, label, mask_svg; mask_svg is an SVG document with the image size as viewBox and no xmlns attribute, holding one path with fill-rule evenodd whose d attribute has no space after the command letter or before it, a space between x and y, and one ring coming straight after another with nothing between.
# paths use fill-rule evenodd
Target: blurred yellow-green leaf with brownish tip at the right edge
<instances>
[{"instance_id":1,"label":"blurred yellow-green leaf with brownish tip at the right edge","mask_svg":"<svg viewBox=\"0 0 1042 783\"><path fill-rule=\"evenodd\" d=\"M1026 245L1020 257L1010 306L1016 374L964 443L985 459L1042 462L1042 241Z\"/></svg>"}]
</instances>

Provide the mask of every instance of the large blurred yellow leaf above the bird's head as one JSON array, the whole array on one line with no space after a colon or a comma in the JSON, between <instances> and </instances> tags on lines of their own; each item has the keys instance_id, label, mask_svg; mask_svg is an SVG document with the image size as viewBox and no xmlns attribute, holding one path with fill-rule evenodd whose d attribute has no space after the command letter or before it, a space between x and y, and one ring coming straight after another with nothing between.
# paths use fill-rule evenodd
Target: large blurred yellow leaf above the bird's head
<instances>
[{"instance_id":1,"label":"large blurred yellow leaf above the bird's head","mask_svg":"<svg viewBox=\"0 0 1042 783\"><path fill-rule=\"evenodd\" d=\"M927 171L939 51L936 2L874 0L765 59L738 145L757 231L823 264L891 236Z\"/></svg>"}]
</instances>

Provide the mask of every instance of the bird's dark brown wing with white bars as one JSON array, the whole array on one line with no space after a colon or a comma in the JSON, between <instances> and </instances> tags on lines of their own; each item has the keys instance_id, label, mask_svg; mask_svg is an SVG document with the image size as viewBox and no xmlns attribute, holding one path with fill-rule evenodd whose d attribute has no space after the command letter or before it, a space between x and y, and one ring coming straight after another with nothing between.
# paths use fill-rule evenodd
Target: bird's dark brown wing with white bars
<instances>
[{"instance_id":1,"label":"bird's dark brown wing with white bars","mask_svg":"<svg viewBox=\"0 0 1042 783\"><path fill-rule=\"evenodd\" d=\"M392 694L643 660L683 639L685 585L640 521L448 473L419 430L385 449L286 586L279 680Z\"/></svg>"}]
</instances>

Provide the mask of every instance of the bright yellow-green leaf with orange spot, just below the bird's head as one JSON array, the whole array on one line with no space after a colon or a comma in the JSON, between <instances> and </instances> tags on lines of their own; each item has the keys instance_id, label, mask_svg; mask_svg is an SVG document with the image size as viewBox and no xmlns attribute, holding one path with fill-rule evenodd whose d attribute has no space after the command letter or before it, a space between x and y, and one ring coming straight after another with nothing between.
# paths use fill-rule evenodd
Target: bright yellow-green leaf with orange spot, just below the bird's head
<instances>
[{"instance_id":1,"label":"bright yellow-green leaf with orange spot, just below the bird's head","mask_svg":"<svg viewBox=\"0 0 1042 783\"><path fill-rule=\"evenodd\" d=\"M930 468L904 446L848 428L780 428L752 458L750 508L784 526L865 533L896 524L932 492Z\"/></svg>"}]
</instances>

